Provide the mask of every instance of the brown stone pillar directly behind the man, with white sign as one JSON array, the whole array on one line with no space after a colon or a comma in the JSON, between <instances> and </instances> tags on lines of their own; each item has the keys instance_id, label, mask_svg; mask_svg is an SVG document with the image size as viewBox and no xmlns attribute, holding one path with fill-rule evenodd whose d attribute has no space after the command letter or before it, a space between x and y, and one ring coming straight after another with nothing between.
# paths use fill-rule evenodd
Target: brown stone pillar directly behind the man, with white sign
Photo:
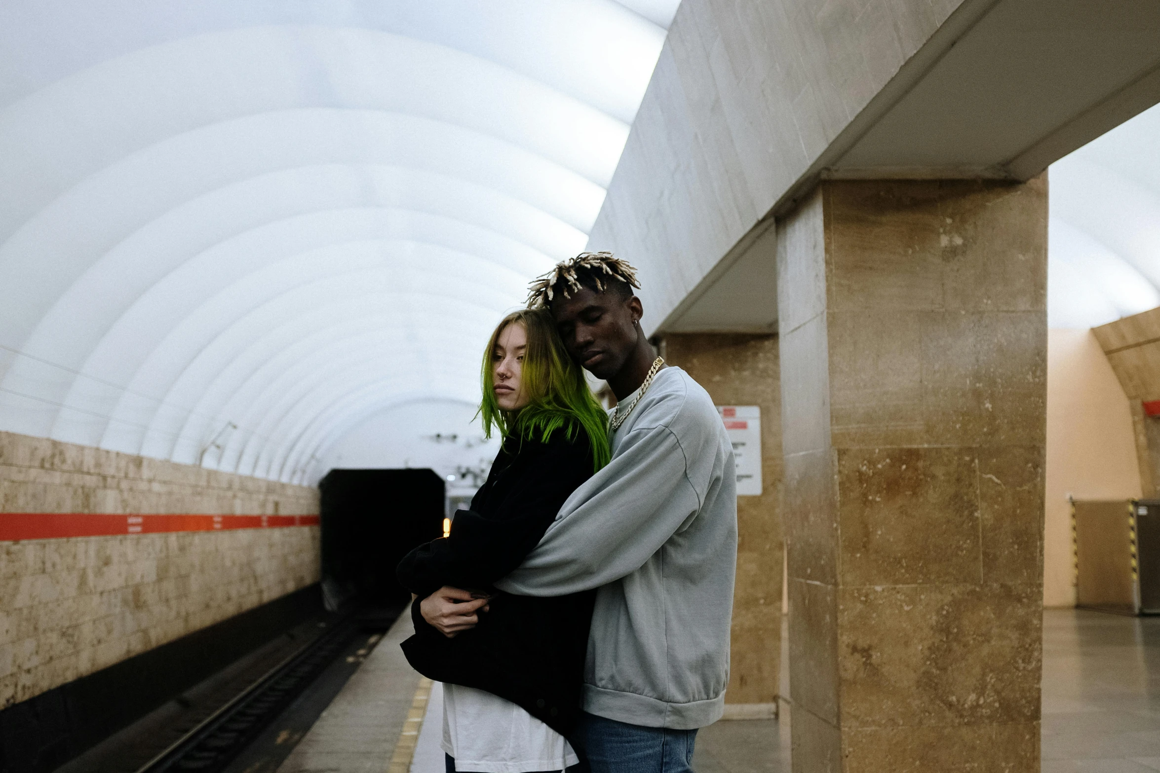
<instances>
[{"instance_id":1,"label":"brown stone pillar directly behind the man, with white sign","mask_svg":"<svg viewBox=\"0 0 1160 773\"><path fill-rule=\"evenodd\" d=\"M782 395L777 336L670 334L666 360L717 404L761 407L761 496L737 498L737 589L726 719L777 715L782 648Z\"/></svg>"}]
</instances>

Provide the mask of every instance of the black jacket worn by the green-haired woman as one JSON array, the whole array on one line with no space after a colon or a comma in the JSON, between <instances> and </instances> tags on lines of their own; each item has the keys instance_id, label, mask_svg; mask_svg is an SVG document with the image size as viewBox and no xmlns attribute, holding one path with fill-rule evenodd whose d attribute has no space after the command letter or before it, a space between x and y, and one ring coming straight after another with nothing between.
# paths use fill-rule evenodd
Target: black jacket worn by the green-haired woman
<instances>
[{"instance_id":1,"label":"black jacket worn by the green-haired woman","mask_svg":"<svg viewBox=\"0 0 1160 773\"><path fill-rule=\"evenodd\" d=\"M582 429L548 443L509 438L487 482L456 513L451 535L422 545L399 563L399 582L418 596L415 635L403 642L425 677L485 690L523 707L564 736L580 716L585 652L595 591L553 598L514 596L492 583L523 562L565 499L593 474ZM419 604L443 585L495 593L479 625L443 636Z\"/></svg>"}]
</instances>

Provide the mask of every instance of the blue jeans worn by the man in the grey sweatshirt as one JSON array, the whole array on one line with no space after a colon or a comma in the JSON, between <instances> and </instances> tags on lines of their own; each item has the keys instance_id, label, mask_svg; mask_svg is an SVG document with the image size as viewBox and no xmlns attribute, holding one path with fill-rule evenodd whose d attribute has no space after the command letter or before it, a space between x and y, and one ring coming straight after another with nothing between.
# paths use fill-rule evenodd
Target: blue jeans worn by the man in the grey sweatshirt
<instances>
[{"instance_id":1,"label":"blue jeans worn by the man in the grey sweatshirt","mask_svg":"<svg viewBox=\"0 0 1160 773\"><path fill-rule=\"evenodd\" d=\"M693 773L697 731L645 728L586 712L575 739L592 773Z\"/></svg>"}]
</instances>

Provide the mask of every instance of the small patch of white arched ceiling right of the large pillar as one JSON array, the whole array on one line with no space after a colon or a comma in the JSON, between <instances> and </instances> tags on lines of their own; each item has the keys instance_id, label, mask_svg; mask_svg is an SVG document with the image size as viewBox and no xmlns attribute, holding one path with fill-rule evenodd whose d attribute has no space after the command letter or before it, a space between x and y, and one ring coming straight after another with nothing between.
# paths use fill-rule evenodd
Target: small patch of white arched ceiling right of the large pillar
<instances>
[{"instance_id":1,"label":"small patch of white arched ceiling right of the large pillar","mask_svg":"<svg viewBox=\"0 0 1160 773\"><path fill-rule=\"evenodd\" d=\"M1051 166L1047 322L1160 306L1160 105Z\"/></svg>"}]
</instances>

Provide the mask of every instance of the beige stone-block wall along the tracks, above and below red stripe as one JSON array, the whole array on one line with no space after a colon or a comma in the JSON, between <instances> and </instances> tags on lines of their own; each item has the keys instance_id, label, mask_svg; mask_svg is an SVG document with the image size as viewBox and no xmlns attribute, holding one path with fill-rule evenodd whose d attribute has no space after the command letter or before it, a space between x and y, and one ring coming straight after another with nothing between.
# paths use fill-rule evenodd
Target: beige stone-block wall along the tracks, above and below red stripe
<instances>
[{"instance_id":1,"label":"beige stone-block wall along the tracks, above and below red stripe","mask_svg":"<svg viewBox=\"0 0 1160 773\"><path fill-rule=\"evenodd\" d=\"M313 515L318 490L0 432L12 512ZM319 578L319 528L0 542L0 707Z\"/></svg>"}]
</instances>

